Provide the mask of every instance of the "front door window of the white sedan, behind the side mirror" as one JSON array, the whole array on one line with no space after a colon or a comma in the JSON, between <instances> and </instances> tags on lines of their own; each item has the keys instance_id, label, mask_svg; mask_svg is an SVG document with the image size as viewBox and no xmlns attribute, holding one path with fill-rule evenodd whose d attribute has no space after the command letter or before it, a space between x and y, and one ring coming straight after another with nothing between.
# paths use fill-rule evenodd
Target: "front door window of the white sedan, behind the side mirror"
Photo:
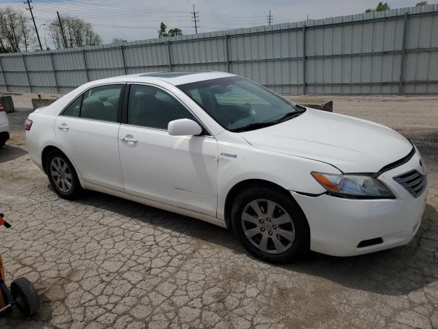
<instances>
[{"instance_id":1,"label":"front door window of the white sedan, behind the side mirror","mask_svg":"<svg viewBox=\"0 0 438 329\"><path fill-rule=\"evenodd\" d=\"M194 117L164 90L153 86L131 86L128 102L130 125L167 130L168 123L177 119L194 120Z\"/></svg>"}]
</instances>

